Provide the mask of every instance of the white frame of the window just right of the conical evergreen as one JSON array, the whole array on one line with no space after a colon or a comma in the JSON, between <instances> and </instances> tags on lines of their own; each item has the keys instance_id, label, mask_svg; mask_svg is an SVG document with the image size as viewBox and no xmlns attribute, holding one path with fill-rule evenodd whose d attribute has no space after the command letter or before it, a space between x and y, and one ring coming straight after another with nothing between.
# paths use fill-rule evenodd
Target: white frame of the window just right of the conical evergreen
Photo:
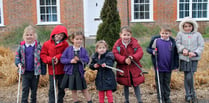
<instances>
[{"instance_id":1,"label":"white frame of the window just right of the conical evergreen","mask_svg":"<svg viewBox=\"0 0 209 103\"><path fill-rule=\"evenodd\" d=\"M149 0L149 19L134 19L134 0L131 0L131 22L154 22L153 20L153 0Z\"/></svg>"}]
</instances>

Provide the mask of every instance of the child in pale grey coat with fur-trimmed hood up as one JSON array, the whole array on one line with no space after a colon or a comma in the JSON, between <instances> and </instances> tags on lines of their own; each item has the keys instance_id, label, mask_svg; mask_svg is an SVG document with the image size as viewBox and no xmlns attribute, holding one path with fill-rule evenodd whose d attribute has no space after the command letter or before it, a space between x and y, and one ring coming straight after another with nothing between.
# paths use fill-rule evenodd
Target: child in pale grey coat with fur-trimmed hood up
<instances>
[{"instance_id":1,"label":"child in pale grey coat with fur-trimmed hood up","mask_svg":"<svg viewBox=\"0 0 209 103\"><path fill-rule=\"evenodd\" d=\"M190 17L185 17L179 24L176 45L180 58L180 71L184 72L185 100L195 101L194 72L204 49L202 35L197 32L198 24Z\"/></svg>"}]
</instances>

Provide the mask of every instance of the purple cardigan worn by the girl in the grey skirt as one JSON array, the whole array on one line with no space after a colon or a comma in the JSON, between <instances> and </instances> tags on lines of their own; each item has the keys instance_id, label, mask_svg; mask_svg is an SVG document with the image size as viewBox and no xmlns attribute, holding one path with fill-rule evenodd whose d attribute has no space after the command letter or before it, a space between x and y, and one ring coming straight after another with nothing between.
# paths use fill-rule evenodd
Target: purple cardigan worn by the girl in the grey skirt
<instances>
[{"instance_id":1,"label":"purple cardigan worn by the girl in the grey skirt","mask_svg":"<svg viewBox=\"0 0 209 103\"><path fill-rule=\"evenodd\" d=\"M73 51L73 46L69 46L68 48L65 49L63 52L60 61L62 64L64 64L64 72L65 74L72 75L73 73L73 64L70 63L70 61L74 58L74 51ZM81 73L81 77L84 75L84 65L88 64L89 62L89 56L88 52L85 48L81 47L80 52L79 52L79 59L80 61L78 62L79 64L79 71Z\"/></svg>"}]
</instances>

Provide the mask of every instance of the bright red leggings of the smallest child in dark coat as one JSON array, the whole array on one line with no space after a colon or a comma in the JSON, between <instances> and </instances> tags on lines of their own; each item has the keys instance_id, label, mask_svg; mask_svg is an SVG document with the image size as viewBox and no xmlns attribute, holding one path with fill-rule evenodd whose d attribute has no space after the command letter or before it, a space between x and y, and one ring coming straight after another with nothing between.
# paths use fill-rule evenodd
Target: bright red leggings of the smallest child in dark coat
<instances>
[{"instance_id":1,"label":"bright red leggings of the smallest child in dark coat","mask_svg":"<svg viewBox=\"0 0 209 103\"><path fill-rule=\"evenodd\" d=\"M99 91L99 103L104 103L105 92L108 99L108 103L113 103L112 90Z\"/></svg>"}]
</instances>

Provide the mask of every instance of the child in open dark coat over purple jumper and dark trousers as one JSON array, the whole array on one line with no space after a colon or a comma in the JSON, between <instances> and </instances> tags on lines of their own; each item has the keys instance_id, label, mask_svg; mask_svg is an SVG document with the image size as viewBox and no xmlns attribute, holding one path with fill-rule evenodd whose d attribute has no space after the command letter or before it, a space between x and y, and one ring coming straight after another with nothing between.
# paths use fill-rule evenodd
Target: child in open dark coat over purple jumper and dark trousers
<instances>
[{"instance_id":1,"label":"child in open dark coat over purple jumper and dark trousers","mask_svg":"<svg viewBox=\"0 0 209 103\"><path fill-rule=\"evenodd\" d=\"M155 51L157 48L157 51ZM177 47L175 39L171 37L171 30L167 27L162 27L160 35L153 36L147 52L152 55L152 63L155 68L155 83L157 86L157 98L160 101L158 78L156 70L156 59L157 67L159 72L159 82L161 90L161 99L163 103L171 103L170 100L170 81L171 72L173 69L178 68L179 58L177 53ZM155 57L157 55L157 58Z\"/></svg>"}]
</instances>

